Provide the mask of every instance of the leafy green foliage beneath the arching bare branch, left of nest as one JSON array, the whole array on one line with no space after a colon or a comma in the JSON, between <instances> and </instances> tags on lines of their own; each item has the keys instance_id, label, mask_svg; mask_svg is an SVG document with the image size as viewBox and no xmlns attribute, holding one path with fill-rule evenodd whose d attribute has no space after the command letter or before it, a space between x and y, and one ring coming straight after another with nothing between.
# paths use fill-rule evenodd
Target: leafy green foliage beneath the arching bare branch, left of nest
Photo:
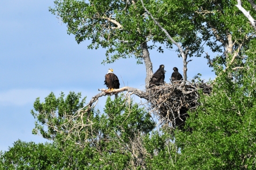
<instances>
[{"instance_id":1,"label":"leafy green foliage beneath the arching bare branch, left of nest","mask_svg":"<svg viewBox=\"0 0 256 170\"><path fill-rule=\"evenodd\" d=\"M108 97L105 113L94 111L82 117L85 99L79 101L81 94L70 92L64 97L63 93L59 98L51 93L43 103L37 98L35 111L31 111L37 118L33 132L53 140L61 151L58 167L123 169L132 161L137 164L137 158L132 158L132 142L155 128L143 108L121 95L115 100ZM87 117L89 125L84 126L82 120L86 122Z\"/></svg>"}]
</instances>

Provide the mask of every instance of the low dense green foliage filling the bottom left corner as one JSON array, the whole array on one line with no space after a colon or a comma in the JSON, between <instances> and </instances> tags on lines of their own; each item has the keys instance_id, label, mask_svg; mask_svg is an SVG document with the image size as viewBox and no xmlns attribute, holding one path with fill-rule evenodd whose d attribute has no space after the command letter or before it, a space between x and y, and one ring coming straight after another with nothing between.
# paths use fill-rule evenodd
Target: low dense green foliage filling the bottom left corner
<instances>
[{"instance_id":1,"label":"low dense green foliage filling the bottom left corner","mask_svg":"<svg viewBox=\"0 0 256 170\"><path fill-rule=\"evenodd\" d=\"M58 169L61 151L51 143L14 142L9 151L0 152L1 169Z\"/></svg>"}]
</instances>

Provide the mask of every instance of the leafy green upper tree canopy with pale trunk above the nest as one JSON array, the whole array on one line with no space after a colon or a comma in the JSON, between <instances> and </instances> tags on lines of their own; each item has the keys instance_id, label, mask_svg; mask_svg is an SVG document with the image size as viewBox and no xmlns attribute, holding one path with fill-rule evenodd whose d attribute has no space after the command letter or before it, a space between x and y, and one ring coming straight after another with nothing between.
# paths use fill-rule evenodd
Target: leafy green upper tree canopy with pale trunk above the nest
<instances>
[{"instance_id":1,"label":"leafy green upper tree canopy with pale trunk above the nest","mask_svg":"<svg viewBox=\"0 0 256 170\"><path fill-rule=\"evenodd\" d=\"M243 67L243 56L239 52L246 49L254 37L252 27L234 6L236 1L65 0L54 3L50 11L67 24L68 33L75 35L77 43L89 39L89 48L106 48L103 63L132 56L138 63L143 62L146 88L153 75L148 41L164 44L167 48L178 46L186 80L187 56L201 56L204 44L212 52L222 53L212 60L209 55L205 56L210 66L216 61L224 69L231 65L237 69Z\"/></svg>"}]
</instances>

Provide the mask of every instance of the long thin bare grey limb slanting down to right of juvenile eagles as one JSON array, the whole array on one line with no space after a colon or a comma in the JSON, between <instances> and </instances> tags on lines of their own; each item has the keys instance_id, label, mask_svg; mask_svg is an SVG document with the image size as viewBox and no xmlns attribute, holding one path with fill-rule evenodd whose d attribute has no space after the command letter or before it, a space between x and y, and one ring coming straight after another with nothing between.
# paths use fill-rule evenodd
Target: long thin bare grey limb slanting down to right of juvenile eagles
<instances>
[{"instance_id":1,"label":"long thin bare grey limb slanting down to right of juvenile eagles","mask_svg":"<svg viewBox=\"0 0 256 170\"><path fill-rule=\"evenodd\" d=\"M166 36L172 41L173 44L175 44L181 53L182 59L183 59L183 77L184 80L187 81L187 54L185 54L185 52L183 51L182 47L180 46L179 43L177 43L176 41L174 41L174 39L172 39L172 37L169 35L169 33L155 20L155 18L152 16L152 14L147 10L147 8L144 6L143 1L140 0L142 3L142 6L144 8L144 10L150 15L151 19L155 22L155 24L162 30L164 31L164 33L166 34Z\"/></svg>"}]
</instances>

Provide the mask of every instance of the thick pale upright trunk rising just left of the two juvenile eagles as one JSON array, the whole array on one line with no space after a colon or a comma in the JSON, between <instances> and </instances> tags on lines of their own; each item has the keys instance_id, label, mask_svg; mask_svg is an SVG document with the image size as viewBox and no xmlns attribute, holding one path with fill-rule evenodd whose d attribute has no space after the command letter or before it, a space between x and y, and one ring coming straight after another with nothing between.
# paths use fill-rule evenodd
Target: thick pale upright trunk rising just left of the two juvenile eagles
<instances>
[{"instance_id":1,"label":"thick pale upright trunk rising just left of the two juvenile eagles","mask_svg":"<svg viewBox=\"0 0 256 170\"><path fill-rule=\"evenodd\" d=\"M146 89L149 87L149 81L153 75L153 66L149 57L149 52L148 52L148 47L147 43L143 43L141 45L142 48L142 58L144 60L145 66L146 66L146 79L145 79L145 84L146 84Z\"/></svg>"}]
</instances>

